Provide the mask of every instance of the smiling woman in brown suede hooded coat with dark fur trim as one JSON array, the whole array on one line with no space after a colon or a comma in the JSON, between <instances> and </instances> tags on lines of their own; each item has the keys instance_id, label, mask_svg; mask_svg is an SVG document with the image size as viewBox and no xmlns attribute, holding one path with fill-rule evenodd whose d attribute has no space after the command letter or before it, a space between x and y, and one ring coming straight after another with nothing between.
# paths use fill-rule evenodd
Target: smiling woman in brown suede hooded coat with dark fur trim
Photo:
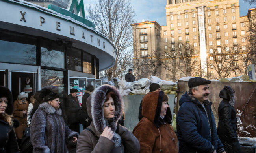
<instances>
[{"instance_id":1,"label":"smiling woman in brown suede hooded coat with dark fur trim","mask_svg":"<svg viewBox=\"0 0 256 153\"><path fill-rule=\"evenodd\" d=\"M143 118L132 132L139 140L140 153L178 153L168 99L163 91L150 92L143 98Z\"/></svg>"}]
</instances>

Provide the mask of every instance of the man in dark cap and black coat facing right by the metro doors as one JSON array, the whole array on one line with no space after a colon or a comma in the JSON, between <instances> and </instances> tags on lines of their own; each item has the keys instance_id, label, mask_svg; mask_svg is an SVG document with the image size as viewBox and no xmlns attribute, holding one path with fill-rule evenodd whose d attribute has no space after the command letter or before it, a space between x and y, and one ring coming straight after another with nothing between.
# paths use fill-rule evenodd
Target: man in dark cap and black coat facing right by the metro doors
<instances>
[{"instance_id":1,"label":"man in dark cap and black coat facing right by the metro doors","mask_svg":"<svg viewBox=\"0 0 256 153\"><path fill-rule=\"evenodd\" d=\"M68 117L69 128L79 133L78 111L80 110L80 104L77 98L77 89L70 89L66 103L66 112Z\"/></svg>"}]
</instances>

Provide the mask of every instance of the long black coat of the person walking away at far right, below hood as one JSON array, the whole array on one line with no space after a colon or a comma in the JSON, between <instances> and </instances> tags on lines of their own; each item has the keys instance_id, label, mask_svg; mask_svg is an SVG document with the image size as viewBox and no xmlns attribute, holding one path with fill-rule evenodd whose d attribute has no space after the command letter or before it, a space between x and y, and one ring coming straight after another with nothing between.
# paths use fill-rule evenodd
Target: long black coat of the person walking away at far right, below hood
<instances>
[{"instance_id":1,"label":"long black coat of the person walking away at far right, below hood","mask_svg":"<svg viewBox=\"0 0 256 153\"><path fill-rule=\"evenodd\" d=\"M240 153L240 145L236 134L236 110L228 100L223 99L219 104L218 135L227 153Z\"/></svg>"}]
</instances>

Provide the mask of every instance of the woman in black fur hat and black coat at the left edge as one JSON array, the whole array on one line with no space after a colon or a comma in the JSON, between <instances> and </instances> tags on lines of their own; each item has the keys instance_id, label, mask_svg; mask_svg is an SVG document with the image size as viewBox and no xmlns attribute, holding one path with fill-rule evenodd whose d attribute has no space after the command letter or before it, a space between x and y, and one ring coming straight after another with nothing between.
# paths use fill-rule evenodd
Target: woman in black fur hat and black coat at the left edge
<instances>
[{"instance_id":1,"label":"woman in black fur hat and black coat at the left edge","mask_svg":"<svg viewBox=\"0 0 256 153\"><path fill-rule=\"evenodd\" d=\"M0 86L0 153L19 153L16 135L13 129L13 95L4 86Z\"/></svg>"}]
</instances>

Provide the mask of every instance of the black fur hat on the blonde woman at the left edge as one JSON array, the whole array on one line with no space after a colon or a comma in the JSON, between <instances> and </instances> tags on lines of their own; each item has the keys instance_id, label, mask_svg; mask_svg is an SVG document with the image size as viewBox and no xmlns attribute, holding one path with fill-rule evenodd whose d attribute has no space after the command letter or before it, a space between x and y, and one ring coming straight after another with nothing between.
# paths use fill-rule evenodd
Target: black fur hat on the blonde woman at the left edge
<instances>
[{"instance_id":1,"label":"black fur hat on the blonde woman at the left edge","mask_svg":"<svg viewBox=\"0 0 256 153\"><path fill-rule=\"evenodd\" d=\"M6 107L6 113L11 115L13 114L13 95L11 94L11 91L4 86L0 86L0 98L6 97L8 102L7 102L7 107Z\"/></svg>"}]
</instances>

